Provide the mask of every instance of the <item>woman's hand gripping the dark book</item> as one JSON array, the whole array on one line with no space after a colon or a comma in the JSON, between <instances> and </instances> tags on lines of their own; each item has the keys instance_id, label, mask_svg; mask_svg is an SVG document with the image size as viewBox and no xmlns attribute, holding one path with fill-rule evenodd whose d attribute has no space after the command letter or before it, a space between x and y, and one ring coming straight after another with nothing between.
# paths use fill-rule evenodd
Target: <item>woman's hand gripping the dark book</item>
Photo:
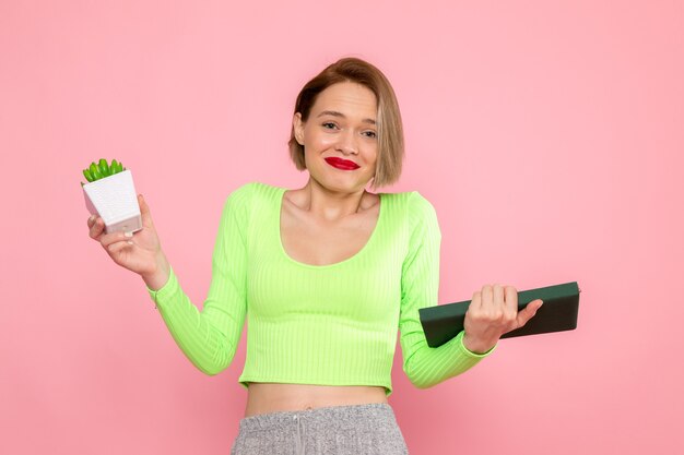
<instances>
[{"instance_id":1,"label":"woman's hand gripping the dark book","mask_svg":"<svg viewBox=\"0 0 684 455\"><path fill-rule=\"evenodd\" d=\"M542 306L532 300L518 311L518 291L512 286L484 285L475 291L465 313L463 345L475 354L492 349L502 335L522 327Z\"/></svg>"}]
</instances>

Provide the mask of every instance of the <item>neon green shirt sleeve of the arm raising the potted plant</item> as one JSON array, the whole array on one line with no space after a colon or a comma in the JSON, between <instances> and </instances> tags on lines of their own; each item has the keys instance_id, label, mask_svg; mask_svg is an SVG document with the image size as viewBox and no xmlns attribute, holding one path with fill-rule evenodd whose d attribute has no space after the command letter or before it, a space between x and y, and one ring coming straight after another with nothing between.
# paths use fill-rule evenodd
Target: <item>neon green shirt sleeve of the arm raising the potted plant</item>
<instances>
[{"instance_id":1,"label":"neon green shirt sleeve of the arm raising the potted plant","mask_svg":"<svg viewBox=\"0 0 684 455\"><path fill-rule=\"evenodd\" d=\"M231 364L245 323L248 192L249 185L244 185L224 203L202 311L182 291L173 267L161 289L154 291L145 286L176 344L210 375Z\"/></svg>"}]
</instances>

